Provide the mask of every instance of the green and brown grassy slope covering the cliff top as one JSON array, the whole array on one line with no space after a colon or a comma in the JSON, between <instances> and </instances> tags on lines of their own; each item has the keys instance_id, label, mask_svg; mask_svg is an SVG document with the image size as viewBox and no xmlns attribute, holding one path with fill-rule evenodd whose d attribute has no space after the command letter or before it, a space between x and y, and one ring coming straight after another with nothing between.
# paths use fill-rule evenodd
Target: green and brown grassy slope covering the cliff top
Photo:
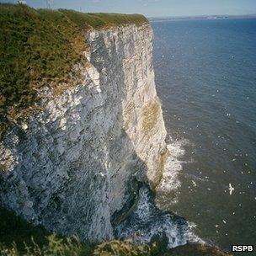
<instances>
[{"instance_id":1,"label":"green and brown grassy slope covering the cliff top","mask_svg":"<svg viewBox=\"0 0 256 256\"><path fill-rule=\"evenodd\" d=\"M140 14L0 4L0 136L35 107L42 85L69 83L77 76L74 64L86 62L86 31L145 23Z\"/></svg>"}]
</instances>

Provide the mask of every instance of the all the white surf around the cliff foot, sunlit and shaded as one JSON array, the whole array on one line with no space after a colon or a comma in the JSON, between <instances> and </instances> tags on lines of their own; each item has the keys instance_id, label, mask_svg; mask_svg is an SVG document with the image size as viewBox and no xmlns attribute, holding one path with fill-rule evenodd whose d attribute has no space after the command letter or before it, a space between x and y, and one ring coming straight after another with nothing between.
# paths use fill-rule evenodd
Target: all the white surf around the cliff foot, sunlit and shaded
<instances>
[{"instance_id":1,"label":"all the white surf around the cliff foot, sunlit and shaded","mask_svg":"<svg viewBox=\"0 0 256 256\"><path fill-rule=\"evenodd\" d=\"M184 147L189 144L187 140L170 141L167 146L169 154L163 178L156 189L156 197L146 185L142 186L136 209L115 227L115 237L131 239L136 244L151 243L154 238L165 237L168 248L188 242L205 243L195 235L195 223L169 211L170 206L179 200L179 174L183 163L186 163L181 158L185 154Z\"/></svg>"}]
</instances>

